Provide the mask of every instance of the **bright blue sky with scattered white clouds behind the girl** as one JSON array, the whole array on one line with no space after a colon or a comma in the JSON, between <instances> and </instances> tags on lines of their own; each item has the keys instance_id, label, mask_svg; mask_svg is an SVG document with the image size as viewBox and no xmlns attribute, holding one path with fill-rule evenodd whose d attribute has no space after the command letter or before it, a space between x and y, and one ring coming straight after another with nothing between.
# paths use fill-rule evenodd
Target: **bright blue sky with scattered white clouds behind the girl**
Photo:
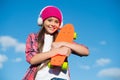
<instances>
[{"instance_id":1,"label":"bright blue sky with scattered white clouds behind the girl","mask_svg":"<svg viewBox=\"0 0 120 80\"><path fill-rule=\"evenodd\" d=\"M47 5L62 10L75 41L90 50L88 57L70 55L71 80L120 80L119 0L0 0L0 80L22 79L29 67L26 38L39 31L37 18Z\"/></svg>"}]
</instances>

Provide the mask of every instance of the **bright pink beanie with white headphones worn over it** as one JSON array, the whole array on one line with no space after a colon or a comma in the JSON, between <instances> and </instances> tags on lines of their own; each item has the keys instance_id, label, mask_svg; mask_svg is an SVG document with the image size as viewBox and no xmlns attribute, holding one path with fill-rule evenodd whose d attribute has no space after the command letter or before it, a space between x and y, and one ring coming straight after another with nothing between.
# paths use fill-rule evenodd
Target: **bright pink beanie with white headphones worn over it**
<instances>
[{"instance_id":1,"label":"bright pink beanie with white headphones worn over it","mask_svg":"<svg viewBox=\"0 0 120 80\"><path fill-rule=\"evenodd\" d=\"M63 16L60 9L55 6L46 6L44 7L38 17L38 25L42 25L43 21L49 17L56 17L60 21L60 26L63 24Z\"/></svg>"}]
</instances>

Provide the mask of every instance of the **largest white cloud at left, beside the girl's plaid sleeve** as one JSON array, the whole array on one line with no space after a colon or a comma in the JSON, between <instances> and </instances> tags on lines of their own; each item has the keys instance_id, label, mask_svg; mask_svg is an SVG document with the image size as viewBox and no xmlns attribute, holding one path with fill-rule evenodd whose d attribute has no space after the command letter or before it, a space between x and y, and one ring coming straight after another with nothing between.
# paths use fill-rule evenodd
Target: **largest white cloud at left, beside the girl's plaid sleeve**
<instances>
[{"instance_id":1,"label":"largest white cloud at left, beside the girl's plaid sleeve","mask_svg":"<svg viewBox=\"0 0 120 80\"><path fill-rule=\"evenodd\" d=\"M0 45L2 50L7 50L7 48L14 47L16 52L24 52L25 44L18 42L15 38L10 36L0 36Z\"/></svg>"}]
</instances>

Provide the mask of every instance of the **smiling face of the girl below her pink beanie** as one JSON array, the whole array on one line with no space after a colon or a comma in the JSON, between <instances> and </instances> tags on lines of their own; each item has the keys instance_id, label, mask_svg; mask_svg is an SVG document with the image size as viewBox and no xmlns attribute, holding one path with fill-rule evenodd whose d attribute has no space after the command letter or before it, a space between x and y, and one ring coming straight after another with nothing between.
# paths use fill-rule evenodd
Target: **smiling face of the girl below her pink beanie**
<instances>
[{"instance_id":1,"label":"smiling face of the girl below her pink beanie","mask_svg":"<svg viewBox=\"0 0 120 80\"><path fill-rule=\"evenodd\" d=\"M45 27L46 33L52 34L58 30L60 22L55 17L49 17L44 21L43 26Z\"/></svg>"}]
</instances>

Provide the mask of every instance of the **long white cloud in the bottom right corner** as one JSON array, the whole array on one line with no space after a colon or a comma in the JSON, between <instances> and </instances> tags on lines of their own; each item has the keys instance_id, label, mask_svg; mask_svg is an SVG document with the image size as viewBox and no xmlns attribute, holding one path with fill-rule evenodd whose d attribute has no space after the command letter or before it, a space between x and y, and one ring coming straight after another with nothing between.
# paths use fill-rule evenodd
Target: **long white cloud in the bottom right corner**
<instances>
[{"instance_id":1,"label":"long white cloud in the bottom right corner","mask_svg":"<svg viewBox=\"0 0 120 80\"><path fill-rule=\"evenodd\" d=\"M120 79L120 68L108 68L101 70L97 76Z\"/></svg>"}]
</instances>

